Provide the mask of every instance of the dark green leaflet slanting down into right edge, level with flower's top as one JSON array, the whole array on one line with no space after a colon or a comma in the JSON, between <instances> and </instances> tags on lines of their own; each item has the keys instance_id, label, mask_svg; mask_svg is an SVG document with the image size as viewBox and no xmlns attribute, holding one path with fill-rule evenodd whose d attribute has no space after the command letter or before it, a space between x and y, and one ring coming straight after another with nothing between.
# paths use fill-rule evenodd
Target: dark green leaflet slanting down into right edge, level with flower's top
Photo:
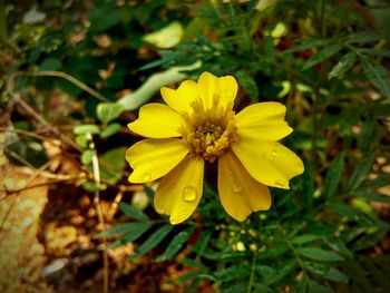
<instances>
[{"instance_id":1,"label":"dark green leaflet slanting down into right edge, level with flower's top","mask_svg":"<svg viewBox=\"0 0 390 293\"><path fill-rule=\"evenodd\" d=\"M390 98L390 77L381 65L369 58L362 58L362 66L368 79L380 90L386 98Z\"/></svg>"}]
</instances>

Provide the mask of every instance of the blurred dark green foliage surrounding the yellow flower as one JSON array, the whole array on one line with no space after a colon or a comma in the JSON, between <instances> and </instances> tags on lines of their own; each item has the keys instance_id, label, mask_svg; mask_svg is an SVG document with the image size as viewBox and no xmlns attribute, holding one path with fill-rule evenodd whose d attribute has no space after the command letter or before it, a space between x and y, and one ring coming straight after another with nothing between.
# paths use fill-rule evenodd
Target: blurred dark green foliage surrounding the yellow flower
<instances>
[{"instance_id":1,"label":"blurred dark green foliage surrounding the yellow flower","mask_svg":"<svg viewBox=\"0 0 390 293\"><path fill-rule=\"evenodd\" d=\"M114 207L98 211L97 244L189 268L169 281L185 292L390 292L389 21L386 0L1 0L3 152L77 175L97 209ZM155 185L129 188L124 154L139 138L126 124L205 70L236 77L237 111L286 105L284 143L305 172L237 223L212 169L197 213L170 226Z\"/></svg>"}]
</instances>

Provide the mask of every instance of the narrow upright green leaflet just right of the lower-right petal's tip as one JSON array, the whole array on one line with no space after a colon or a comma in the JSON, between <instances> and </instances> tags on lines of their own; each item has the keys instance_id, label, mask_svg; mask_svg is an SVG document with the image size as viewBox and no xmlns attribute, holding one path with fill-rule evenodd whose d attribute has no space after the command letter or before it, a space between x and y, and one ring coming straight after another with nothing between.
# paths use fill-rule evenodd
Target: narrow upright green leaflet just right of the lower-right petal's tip
<instances>
[{"instance_id":1,"label":"narrow upright green leaflet just right of the lower-right petal's tip","mask_svg":"<svg viewBox=\"0 0 390 293\"><path fill-rule=\"evenodd\" d=\"M338 189L344 169L345 152L341 152L331 163L325 177L323 196L332 196Z\"/></svg>"}]
</instances>

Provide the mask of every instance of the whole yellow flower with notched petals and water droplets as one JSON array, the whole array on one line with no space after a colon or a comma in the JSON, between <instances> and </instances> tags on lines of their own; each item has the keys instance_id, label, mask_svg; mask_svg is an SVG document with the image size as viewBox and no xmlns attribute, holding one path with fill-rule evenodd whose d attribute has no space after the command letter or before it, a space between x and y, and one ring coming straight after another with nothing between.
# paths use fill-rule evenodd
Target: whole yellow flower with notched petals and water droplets
<instances>
[{"instance_id":1,"label":"whole yellow flower with notched petals and water droplets","mask_svg":"<svg viewBox=\"0 0 390 293\"><path fill-rule=\"evenodd\" d=\"M176 90L160 91L167 105L143 106L128 125L147 138L133 145L126 159L134 169L131 183L164 176L154 204L170 215L172 224L188 218L198 205L205 162L217 160L220 199L237 221L270 208L267 186L287 189L289 180L303 173L302 160L276 143L292 131L282 104L259 102L235 114L236 80L209 72L198 82L185 80Z\"/></svg>"}]
</instances>

